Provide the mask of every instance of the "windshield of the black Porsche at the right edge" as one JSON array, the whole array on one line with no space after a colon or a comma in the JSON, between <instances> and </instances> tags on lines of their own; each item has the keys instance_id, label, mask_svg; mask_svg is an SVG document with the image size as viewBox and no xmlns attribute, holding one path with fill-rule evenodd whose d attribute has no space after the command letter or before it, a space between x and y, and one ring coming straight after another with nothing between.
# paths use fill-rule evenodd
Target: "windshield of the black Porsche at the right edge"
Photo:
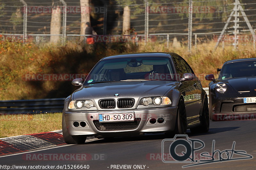
<instances>
[{"instance_id":1,"label":"windshield of the black Porsche at the right edge","mask_svg":"<svg viewBox=\"0 0 256 170\"><path fill-rule=\"evenodd\" d=\"M220 72L220 79L256 76L256 60L225 64Z\"/></svg>"}]
</instances>

